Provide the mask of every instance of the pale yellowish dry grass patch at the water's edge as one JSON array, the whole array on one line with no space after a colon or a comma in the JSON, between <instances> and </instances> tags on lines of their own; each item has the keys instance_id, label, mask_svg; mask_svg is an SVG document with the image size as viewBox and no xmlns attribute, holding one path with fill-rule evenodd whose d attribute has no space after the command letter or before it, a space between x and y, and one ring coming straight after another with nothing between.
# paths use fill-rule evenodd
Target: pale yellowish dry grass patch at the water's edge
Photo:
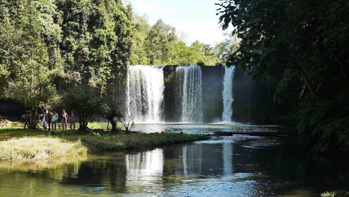
<instances>
[{"instance_id":1,"label":"pale yellowish dry grass patch at the water's edge","mask_svg":"<svg viewBox=\"0 0 349 197\"><path fill-rule=\"evenodd\" d=\"M63 141L53 137L21 137L0 141L0 160L47 160L86 155L87 148L80 141Z\"/></svg>"}]
</instances>

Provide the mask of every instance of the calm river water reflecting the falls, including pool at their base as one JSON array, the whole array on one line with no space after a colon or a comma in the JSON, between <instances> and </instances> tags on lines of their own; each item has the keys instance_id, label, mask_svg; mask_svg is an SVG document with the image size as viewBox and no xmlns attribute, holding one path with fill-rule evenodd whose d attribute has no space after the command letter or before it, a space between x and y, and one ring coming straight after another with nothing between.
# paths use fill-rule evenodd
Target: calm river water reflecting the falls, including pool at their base
<instances>
[{"instance_id":1,"label":"calm river water reflecting the falls, including pool at their base","mask_svg":"<svg viewBox=\"0 0 349 197\"><path fill-rule=\"evenodd\" d=\"M236 128L138 129L150 127L190 133ZM319 196L349 188L349 165L310 155L290 137L222 136L75 163L0 165L0 186L0 196Z\"/></svg>"}]
</instances>

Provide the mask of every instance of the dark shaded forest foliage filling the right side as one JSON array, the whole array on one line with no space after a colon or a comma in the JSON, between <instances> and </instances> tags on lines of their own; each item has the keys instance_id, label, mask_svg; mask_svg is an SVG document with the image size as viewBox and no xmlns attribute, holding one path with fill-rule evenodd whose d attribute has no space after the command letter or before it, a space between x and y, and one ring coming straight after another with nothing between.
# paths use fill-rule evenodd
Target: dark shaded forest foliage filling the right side
<instances>
[{"instance_id":1,"label":"dark shaded forest foliage filling the right side","mask_svg":"<svg viewBox=\"0 0 349 197\"><path fill-rule=\"evenodd\" d=\"M312 151L349 151L349 2L229 0L217 4L223 29L241 39L228 64L253 68L277 85L289 122Z\"/></svg>"}]
</instances>

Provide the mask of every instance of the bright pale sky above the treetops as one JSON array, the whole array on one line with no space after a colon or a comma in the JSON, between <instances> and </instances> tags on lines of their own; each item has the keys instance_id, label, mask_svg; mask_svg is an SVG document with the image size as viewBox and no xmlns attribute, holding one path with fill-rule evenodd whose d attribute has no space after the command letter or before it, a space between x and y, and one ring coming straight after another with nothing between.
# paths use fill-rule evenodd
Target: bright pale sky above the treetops
<instances>
[{"instance_id":1,"label":"bright pale sky above the treetops","mask_svg":"<svg viewBox=\"0 0 349 197\"><path fill-rule=\"evenodd\" d=\"M160 18L175 27L177 34L186 34L187 45L196 40L214 46L224 39L218 24L216 3L219 0L128 0L137 15L147 15L154 25ZM232 27L229 28L229 31Z\"/></svg>"}]
</instances>

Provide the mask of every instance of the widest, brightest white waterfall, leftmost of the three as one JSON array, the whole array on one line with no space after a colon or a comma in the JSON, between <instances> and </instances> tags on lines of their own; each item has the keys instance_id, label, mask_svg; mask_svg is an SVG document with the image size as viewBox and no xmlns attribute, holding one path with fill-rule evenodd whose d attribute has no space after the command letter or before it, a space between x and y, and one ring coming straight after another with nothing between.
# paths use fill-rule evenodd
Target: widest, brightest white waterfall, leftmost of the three
<instances>
[{"instance_id":1,"label":"widest, brightest white waterfall, leftmost of the three","mask_svg":"<svg viewBox=\"0 0 349 197\"><path fill-rule=\"evenodd\" d=\"M162 122L163 68L130 65L127 70L127 110L135 122Z\"/></svg>"}]
</instances>

